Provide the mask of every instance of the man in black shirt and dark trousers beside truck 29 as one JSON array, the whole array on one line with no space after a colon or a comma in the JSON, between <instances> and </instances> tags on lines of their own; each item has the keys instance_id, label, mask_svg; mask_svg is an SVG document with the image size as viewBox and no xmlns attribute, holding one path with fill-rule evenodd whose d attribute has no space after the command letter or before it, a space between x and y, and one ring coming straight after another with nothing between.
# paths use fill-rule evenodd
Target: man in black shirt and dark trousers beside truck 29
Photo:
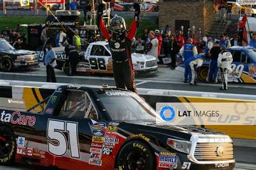
<instances>
[{"instance_id":1,"label":"man in black shirt and dark trousers beside truck 29","mask_svg":"<svg viewBox=\"0 0 256 170\"><path fill-rule=\"evenodd\" d=\"M221 47L219 41L215 42L215 46L211 49L209 56L210 56L210 68L208 70L208 76L206 78L206 83L213 81L214 83L218 83L217 80L217 75L219 72L219 67L218 67L218 56L219 53L221 52ZM212 80L212 75L213 75L213 80Z\"/></svg>"}]
</instances>

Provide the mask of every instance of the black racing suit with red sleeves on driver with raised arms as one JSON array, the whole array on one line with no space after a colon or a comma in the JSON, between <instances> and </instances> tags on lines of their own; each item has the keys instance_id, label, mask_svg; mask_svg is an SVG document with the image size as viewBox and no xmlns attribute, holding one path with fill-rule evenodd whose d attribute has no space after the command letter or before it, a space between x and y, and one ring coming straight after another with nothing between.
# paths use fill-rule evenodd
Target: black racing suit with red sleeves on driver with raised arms
<instances>
[{"instance_id":1,"label":"black racing suit with red sleeves on driver with raised arms","mask_svg":"<svg viewBox=\"0 0 256 170\"><path fill-rule=\"evenodd\" d=\"M97 15L97 26L103 36L109 41L110 51L113 60L114 81L117 88L134 91L137 93L137 87L134 79L134 70L132 65L132 39L135 36L140 22L140 15L136 13L130 27L130 30L121 36L109 32L104 26L101 15Z\"/></svg>"}]
</instances>

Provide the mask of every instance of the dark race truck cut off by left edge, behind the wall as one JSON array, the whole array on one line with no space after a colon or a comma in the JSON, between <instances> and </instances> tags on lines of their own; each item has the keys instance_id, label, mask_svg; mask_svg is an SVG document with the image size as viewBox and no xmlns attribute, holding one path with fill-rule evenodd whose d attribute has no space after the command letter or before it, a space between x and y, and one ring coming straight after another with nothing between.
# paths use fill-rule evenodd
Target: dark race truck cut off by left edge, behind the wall
<instances>
[{"instance_id":1,"label":"dark race truck cut off by left edge, behind the wall","mask_svg":"<svg viewBox=\"0 0 256 170\"><path fill-rule=\"evenodd\" d=\"M38 67L38 56L35 52L15 49L5 39L0 38L0 69L11 72L17 69Z\"/></svg>"}]
</instances>

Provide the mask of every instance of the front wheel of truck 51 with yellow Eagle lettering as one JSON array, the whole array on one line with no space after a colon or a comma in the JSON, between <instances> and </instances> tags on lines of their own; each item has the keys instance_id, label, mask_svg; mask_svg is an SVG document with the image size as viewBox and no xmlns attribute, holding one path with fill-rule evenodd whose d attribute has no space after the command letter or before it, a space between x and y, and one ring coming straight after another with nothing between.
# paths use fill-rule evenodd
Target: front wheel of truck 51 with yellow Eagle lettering
<instances>
[{"instance_id":1,"label":"front wheel of truck 51 with yellow Eagle lettering","mask_svg":"<svg viewBox=\"0 0 256 170\"><path fill-rule=\"evenodd\" d=\"M149 144L140 140L126 143L117 159L118 168L122 169L156 169L156 155ZM120 168L119 168L120 169Z\"/></svg>"}]
</instances>

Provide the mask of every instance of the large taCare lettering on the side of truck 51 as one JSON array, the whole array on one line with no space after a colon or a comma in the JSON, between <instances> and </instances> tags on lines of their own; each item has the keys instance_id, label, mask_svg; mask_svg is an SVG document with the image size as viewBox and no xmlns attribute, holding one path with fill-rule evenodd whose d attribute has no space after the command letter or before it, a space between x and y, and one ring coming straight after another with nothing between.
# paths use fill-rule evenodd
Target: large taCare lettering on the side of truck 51
<instances>
[{"instance_id":1,"label":"large taCare lettering on the side of truck 51","mask_svg":"<svg viewBox=\"0 0 256 170\"><path fill-rule=\"evenodd\" d=\"M3 111L1 113L0 121L11 122L13 124L19 124L19 125L33 126L36 123L36 117L21 115L21 113L18 111L15 111L13 114L5 114L5 111Z\"/></svg>"}]
</instances>

